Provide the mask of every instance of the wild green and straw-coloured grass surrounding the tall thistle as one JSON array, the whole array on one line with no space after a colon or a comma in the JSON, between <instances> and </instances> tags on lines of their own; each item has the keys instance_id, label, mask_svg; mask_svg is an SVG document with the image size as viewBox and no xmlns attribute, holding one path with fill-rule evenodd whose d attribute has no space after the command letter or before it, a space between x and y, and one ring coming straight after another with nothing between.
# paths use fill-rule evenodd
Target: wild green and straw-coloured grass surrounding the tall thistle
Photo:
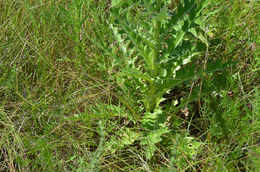
<instances>
[{"instance_id":1,"label":"wild green and straw-coloured grass surrounding the tall thistle","mask_svg":"<svg viewBox=\"0 0 260 172\"><path fill-rule=\"evenodd\" d=\"M117 52L110 1L0 0L0 171L259 171L259 7L212 0L204 9L208 60L236 66L195 83L213 90L187 117L166 108L170 133L149 159L135 140L139 97L93 42Z\"/></svg>"}]
</instances>

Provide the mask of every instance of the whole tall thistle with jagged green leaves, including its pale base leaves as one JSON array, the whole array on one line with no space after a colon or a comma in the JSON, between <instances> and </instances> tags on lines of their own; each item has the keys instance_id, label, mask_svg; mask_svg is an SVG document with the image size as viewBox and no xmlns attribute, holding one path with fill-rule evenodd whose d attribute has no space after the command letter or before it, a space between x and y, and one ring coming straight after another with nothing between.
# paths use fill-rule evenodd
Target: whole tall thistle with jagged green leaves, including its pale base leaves
<instances>
[{"instance_id":1,"label":"whole tall thistle with jagged green leaves, including its pale base leaves","mask_svg":"<svg viewBox=\"0 0 260 172\"><path fill-rule=\"evenodd\" d=\"M117 71L122 89L141 95L145 131L138 137L133 134L133 138L141 141L148 159L156 150L155 144L162 141L161 136L169 132L166 113L159 106L163 95L221 66L202 69L190 63L200 54L198 45L207 46L202 22L206 5L207 0L184 0L177 7L167 0L112 1L110 28L116 45L112 45L112 51L105 43L97 45L113 57L110 71Z\"/></svg>"}]
</instances>

